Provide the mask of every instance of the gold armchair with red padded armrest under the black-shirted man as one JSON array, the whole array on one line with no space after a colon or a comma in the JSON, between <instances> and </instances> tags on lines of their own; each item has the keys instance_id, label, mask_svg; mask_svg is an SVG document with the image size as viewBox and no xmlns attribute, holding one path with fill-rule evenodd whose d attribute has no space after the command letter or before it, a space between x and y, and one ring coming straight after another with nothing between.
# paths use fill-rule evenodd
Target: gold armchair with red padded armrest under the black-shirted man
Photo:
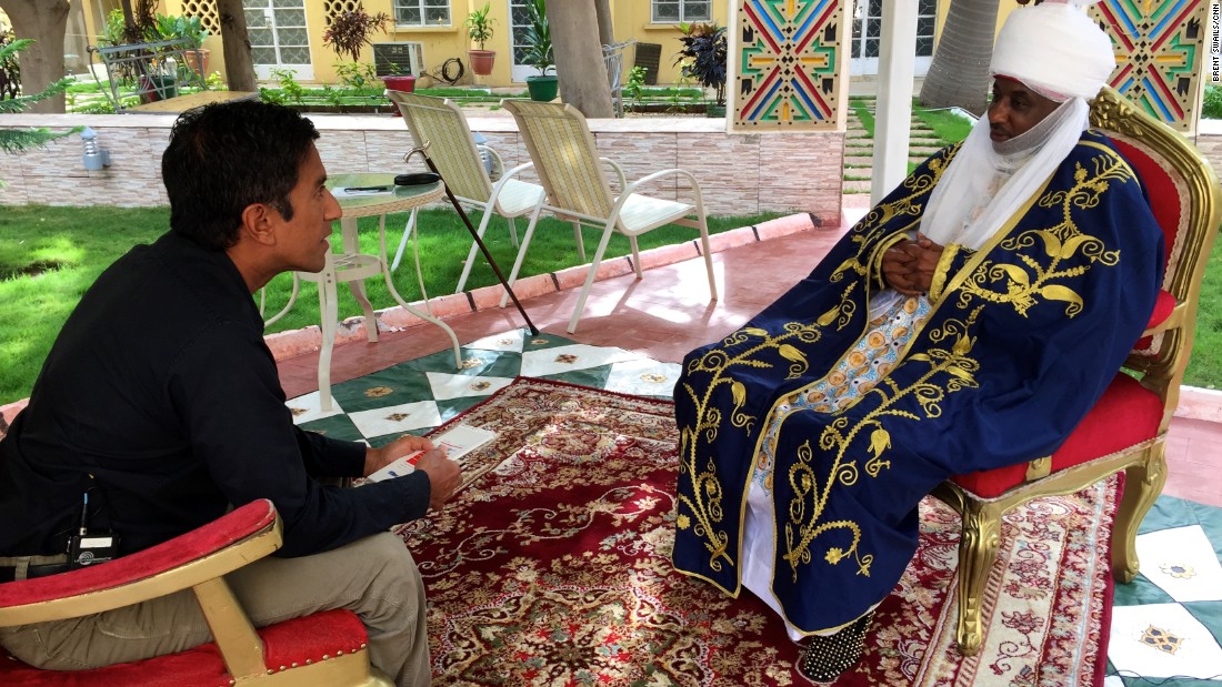
<instances>
[{"instance_id":1,"label":"gold armchair with red padded armrest under the black-shirted man","mask_svg":"<svg viewBox=\"0 0 1222 687\"><path fill-rule=\"evenodd\" d=\"M191 588L214 637L177 654L66 672L38 670L0 650L0 685L390 687L369 666L365 628L351 611L251 625L224 575L280 544L280 516L271 502L258 500L110 563L0 584L2 627L81 617Z\"/></svg>"}]
</instances>

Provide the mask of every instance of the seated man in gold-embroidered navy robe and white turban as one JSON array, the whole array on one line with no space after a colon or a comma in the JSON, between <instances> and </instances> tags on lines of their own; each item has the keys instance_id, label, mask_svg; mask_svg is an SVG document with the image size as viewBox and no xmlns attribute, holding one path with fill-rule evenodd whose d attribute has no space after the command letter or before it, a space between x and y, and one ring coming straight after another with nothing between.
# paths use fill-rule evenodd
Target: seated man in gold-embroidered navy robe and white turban
<instances>
[{"instance_id":1,"label":"seated man in gold-embroidered navy robe and white turban","mask_svg":"<svg viewBox=\"0 0 1222 687\"><path fill-rule=\"evenodd\" d=\"M1088 129L1113 66L1083 9L1013 12L968 139L683 362L675 565L759 595L807 646L808 677L857 661L916 550L921 498L1052 454L1145 328L1162 233Z\"/></svg>"}]
</instances>

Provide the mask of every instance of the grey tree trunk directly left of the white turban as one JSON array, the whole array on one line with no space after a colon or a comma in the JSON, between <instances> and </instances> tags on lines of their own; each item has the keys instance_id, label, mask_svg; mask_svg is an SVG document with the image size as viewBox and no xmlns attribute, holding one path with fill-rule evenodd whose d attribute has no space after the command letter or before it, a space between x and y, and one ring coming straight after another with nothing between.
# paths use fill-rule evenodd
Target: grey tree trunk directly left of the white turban
<instances>
[{"instance_id":1,"label":"grey tree trunk directly left of the white turban","mask_svg":"<svg viewBox=\"0 0 1222 687\"><path fill-rule=\"evenodd\" d=\"M920 89L926 107L985 111L991 83L993 35L1000 0L952 0L934 62Z\"/></svg>"}]
</instances>

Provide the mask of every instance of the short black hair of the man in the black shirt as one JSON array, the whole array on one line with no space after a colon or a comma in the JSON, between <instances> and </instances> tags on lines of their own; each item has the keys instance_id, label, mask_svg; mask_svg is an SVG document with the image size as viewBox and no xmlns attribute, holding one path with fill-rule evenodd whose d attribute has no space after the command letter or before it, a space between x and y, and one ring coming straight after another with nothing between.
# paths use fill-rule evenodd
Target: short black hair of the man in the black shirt
<instances>
[{"instance_id":1,"label":"short black hair of the man in the black shirt","mask_svg":"<svg viewBox=\"0 0 1222 687\"><path fill-rule=\"evenodd\" d=\"M288 194L315 139L313 122L281 105L238 101L183 112L161 156L171 231L225 250L237 243L242 211L254 203L291 220Z\"/></svg>"}]
</instances>

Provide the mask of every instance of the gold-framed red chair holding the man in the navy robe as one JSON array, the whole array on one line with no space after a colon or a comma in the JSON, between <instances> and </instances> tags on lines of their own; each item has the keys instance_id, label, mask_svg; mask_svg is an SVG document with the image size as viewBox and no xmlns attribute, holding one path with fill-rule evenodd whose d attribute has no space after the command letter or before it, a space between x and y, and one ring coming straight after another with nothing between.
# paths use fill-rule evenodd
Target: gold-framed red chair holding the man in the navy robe
<instances>
[{"instance_id":1,"label":"gold-framed red chair holding the man in the navy robe","mask_svg":"<svg viewBox=\"0 0 1222 687\"><path fill-rule=\"evenodd\" d=\"M984 642L982 598L997 558L1001 516L1031 499L1068 494L1123 470L1124 497L1112 537L1112 574L1138 574L1138 526L1167 481L1167 427L1179 400L1196 320L1196 301L1222 215L1222 192L1209 162L1184 137L1139 111L1111 88L1091 104L1091 124L1107 133L1141 177L1167 250L1154 316L1099 403L1051 456L1028 465L953 477L934 491L963 516L959 539L957 639L974 655Z\"/></svg>"}]
</instances>

